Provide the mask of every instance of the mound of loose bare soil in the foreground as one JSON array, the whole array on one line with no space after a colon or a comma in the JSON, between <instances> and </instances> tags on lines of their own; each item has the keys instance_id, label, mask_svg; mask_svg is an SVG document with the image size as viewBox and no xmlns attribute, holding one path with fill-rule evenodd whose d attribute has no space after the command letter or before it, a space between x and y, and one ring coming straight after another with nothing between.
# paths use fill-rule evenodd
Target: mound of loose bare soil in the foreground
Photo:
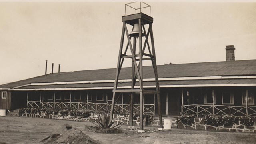
<instances>
[{"instance_id":1,"label":"mound of loose bare soil in the foreground","mask_svg":"<svg viewBox=\"0 0 256 144\"><path fill-rule=\"evenodd\" d=\"M72 128L69 124L62 125L58 130L42 139L41 142L46 144L101 144L82 131Z\"/></svg>"}]
</instances>

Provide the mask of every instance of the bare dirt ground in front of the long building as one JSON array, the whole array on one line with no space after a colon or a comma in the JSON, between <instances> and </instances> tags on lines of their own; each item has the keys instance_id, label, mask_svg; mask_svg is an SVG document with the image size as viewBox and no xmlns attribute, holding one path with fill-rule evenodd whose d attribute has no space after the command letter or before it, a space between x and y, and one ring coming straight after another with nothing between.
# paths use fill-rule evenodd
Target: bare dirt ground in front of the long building
<instances>
[{"instance_id":1,"label":"bare dirt ground in front of the long building","mask_svg":"<svg viewBox=\"0 0 256 144\"><path fill-rule=\"evenodd\" d=\"M64 126L69 124L71 130ZM43 118L0 117L0 144L256 144L256 134L209 132L172 128L138 133L122 126L120 134L90 132L90 122ZM138 127L137 127L138 128ZM157 128L156 128L157 129Z\"/></svg>"}]
</instances>

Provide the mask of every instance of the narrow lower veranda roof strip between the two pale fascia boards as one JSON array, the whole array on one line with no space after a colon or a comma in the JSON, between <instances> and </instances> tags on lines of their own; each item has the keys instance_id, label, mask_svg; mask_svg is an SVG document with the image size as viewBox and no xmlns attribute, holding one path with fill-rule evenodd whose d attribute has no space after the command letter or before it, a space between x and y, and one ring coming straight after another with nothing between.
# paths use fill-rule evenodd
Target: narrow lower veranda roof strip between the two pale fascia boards
<instances>
[{"instance_id":1,"label":"narrow lower veranda roof strip between the two pale fascia boards","mask_svg":"<svg viewBox=\"0 0 256 144\"><path fill-rule=\"evenodd\" d=\"M256 84L256 79L224 79L224 80L171 80L160 81L160 86L168 85L195 85L195 84ZM144 86L155 86L155 82L143 82ZM137 82L135 84L139 86ZM37 89L37 88L95 88L95 87L113 87L113 82L108 83L88 83L88 84L55 84L55 85L37 85L37 86L24 86L19 89ZM118 86L131 86L130 82L119 83Z\"/></svg>"}]
</instances>

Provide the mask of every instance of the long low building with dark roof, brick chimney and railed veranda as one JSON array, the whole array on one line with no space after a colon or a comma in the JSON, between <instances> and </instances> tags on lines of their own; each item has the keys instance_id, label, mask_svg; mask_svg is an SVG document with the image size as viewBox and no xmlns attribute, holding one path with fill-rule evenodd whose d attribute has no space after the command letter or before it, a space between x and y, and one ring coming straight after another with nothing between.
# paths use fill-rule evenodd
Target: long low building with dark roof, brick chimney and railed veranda
<instances>
[{"instance_id":1,"label":"long low building with dark roof, brick chimney and railed veranda","mask_svg":"<svg viewBox=\"0 0 256 144\"><path fill-rule=\"evenodd\" d=\"M227 46L223 62L158 65L162 114L256 116L256 60L235 61L234 49ZM152 66L143 67L146 88L155 87L152 71ZM112 103L115 73L115 68L60 72L3 84L0 85L0 109L106 110ZM130 88L131 74L131 68L122 68L119 88ZM129 94L119 93L116 97L115 110L129 112ZM139 102L139 96L135 95L135 111L140 110ZM158 115L154 94L144 94L143 109Z\"/></svg>"}]
</instances>

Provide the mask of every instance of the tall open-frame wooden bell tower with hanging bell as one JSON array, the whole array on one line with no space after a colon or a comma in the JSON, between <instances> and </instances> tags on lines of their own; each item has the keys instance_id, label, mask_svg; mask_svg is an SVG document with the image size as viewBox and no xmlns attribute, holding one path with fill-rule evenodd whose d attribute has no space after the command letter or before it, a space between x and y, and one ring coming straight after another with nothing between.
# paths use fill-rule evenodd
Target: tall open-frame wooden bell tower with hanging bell
<instances>
[{"instance_id":1,"label":"tall open-frame wooden bell tower with hanging bell","mask_svg":"<svg viewBox=\"0 0 256 144\"><path fill-rule=\"evenodd\" d=\"M143 4L146 4L142 2ZM162 114L161 114L161 102L160 102L160 89L159 89L159 82L158 82L158 73L157 73L157 66L156 66L156 53L155 53L155 46L154 46L154 36L153 36L153 29L152 23L153 18L141 12L141 4L140 8L136 9L126 4L126 6L132 7L135 9L135 14L122 16L122 35L121 35L121 42L119 48L119 55L118 55L118 63L116 68L116 77L114 82L114 89L113 89L113 97L112 97L112 106L111 106L111 116L113 116L114 112L114 104L116 93L130 93L130 126L133 126L133 98L134 95L139 94L140 96L140 129L143 129L143 96L144 94L156 94L157 96L157 106L158 106L158 115L160 120L160 128L162 128ZM150 6L146 4L147 8ZM140 10L140 13L137 13L137 10ZM133 26L132 32L128 32L127 26ZM146 31L146 27L148 30ZM124 39L127 39L127 45L124 48ZM143 39L144 40L143 40ZM138 39L138 50L136 50L136 42ZM133 41L133 44L132 44ZM130 51L131 55L127 54L127 51ZM132 60L132 71L131 71L131 83L130 88L118 88L118 79L120 75L120 71L122 69L122 64L124 59L128 58ZM155 88L144 88L143 87L143 61L149 60L150 65L152 66L152 75L154 75L155 79ZM138 83L136 83L136 81ZM146 96L145 96L146 99Z\"/></svg>"}]
</instances>

